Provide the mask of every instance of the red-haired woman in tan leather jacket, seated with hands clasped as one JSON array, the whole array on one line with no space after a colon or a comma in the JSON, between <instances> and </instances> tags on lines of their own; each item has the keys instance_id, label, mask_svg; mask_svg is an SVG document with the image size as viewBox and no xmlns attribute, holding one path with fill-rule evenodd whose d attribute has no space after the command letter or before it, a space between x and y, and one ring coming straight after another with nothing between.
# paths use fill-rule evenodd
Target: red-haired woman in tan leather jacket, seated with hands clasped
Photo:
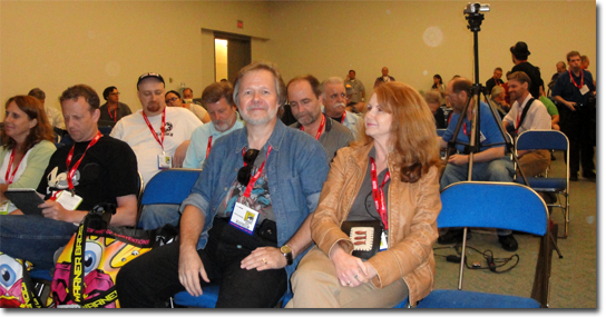
<instances>
[{"instance_id":1,"label":"red-haired woman in tan leather jacket, seated with hands clasped","mask_svg":"<svg viewBox=\"0 0 606 317\"><path fill-rule=\"evenodd\" d=\"M433 287L441 210L433 116L401 82L377 87L368 109L358 140L332 162L311 224L317 246L293 275L289 307L393 307Z\"/></svg>"}]
</instances>

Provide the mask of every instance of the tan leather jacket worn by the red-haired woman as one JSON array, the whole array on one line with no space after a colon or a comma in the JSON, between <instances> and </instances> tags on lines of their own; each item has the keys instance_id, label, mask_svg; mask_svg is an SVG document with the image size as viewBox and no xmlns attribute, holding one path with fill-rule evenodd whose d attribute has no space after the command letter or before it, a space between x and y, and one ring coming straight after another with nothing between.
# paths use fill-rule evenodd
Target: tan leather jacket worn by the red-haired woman
<instances>
[{"instance_id":1,"label":"tan leather jacket worn by the red-haired woman","mask_svg":"<svg viewBox=\"0 0 606 317\"><path fill-rule=\"evenodd\" d=\"M373 146L343 148L331 165L311 222L312 237L326 255L338 242L350 254L353 250L341 224L360 191ZM436 276L432 247L438 239L436 219L442 208L439 171L432 167L418 182L408 184L400 181L398 168L388 165L392 179L388 192L389 249L369 260L378 273L372 283L383 288L403 278L409 300L416 304L432 290Z\"/></svg>"}]
</instances>

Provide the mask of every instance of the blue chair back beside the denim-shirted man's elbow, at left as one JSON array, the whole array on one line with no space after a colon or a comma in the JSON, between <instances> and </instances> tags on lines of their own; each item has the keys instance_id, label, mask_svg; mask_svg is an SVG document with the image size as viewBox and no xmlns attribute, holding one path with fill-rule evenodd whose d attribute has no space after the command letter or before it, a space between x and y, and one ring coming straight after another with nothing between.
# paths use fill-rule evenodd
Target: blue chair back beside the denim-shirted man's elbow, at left
<instances>
[{"instance_id":1,"label":"blue chair back beside the denim-shirted man's elbow, at left","mask_svg":"<svg viewBox=\"0 0 606 317\"><path fill-rule=\"evenodd\" d=\"M198 179L199 169L165 169L156 174L145 187L141 205L180 205Z\"/></svg>"}]
</instances>

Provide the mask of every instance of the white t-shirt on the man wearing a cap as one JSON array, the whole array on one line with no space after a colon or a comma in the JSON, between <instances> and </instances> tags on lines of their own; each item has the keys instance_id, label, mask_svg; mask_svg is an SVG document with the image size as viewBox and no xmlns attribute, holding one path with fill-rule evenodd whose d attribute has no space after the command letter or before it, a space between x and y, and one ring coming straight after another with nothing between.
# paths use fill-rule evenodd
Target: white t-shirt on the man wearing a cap
<instances>
[{"instance_id":1,"label":"white t-shirt on the man wearing a cap","mask_svg":"<svg viewBox=\"0 0 606 317\"><path fill-rule=\"evenodd\" d=\"M162 115L148 117L149 123L162 140ZM164 152L173 157L178 146L192 138L192 132L202 121L192 111L184 108L166 107L166 123L164 135ZM138 170L143 176L144 185L160 171L158 155L163 148L152 135L143 117L143 110L124 117L111 130L110 137L127 142L137 156Z\"/></svg>"}]
</instances>

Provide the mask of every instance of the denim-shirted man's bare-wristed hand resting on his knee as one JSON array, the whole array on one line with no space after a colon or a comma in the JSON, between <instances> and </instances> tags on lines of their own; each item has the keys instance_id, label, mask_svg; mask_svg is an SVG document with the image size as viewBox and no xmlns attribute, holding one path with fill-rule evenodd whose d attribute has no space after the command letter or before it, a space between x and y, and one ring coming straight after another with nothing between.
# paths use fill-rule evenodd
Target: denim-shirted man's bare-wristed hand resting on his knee
<instances>
[{"instance_id":1,"label":"denim-shirted man's bare-wristed hand resting on his knee","mask_svg":"<svg viewBox=\"0 0 606 317\"><path fill-rule=\"evenodd\" d=\"M195 249L183 250L182 248L179 251L179 281L189 295L202 296L201 276L204 281L211 283L198 252Z\"/></svg>"}]
</instances>

